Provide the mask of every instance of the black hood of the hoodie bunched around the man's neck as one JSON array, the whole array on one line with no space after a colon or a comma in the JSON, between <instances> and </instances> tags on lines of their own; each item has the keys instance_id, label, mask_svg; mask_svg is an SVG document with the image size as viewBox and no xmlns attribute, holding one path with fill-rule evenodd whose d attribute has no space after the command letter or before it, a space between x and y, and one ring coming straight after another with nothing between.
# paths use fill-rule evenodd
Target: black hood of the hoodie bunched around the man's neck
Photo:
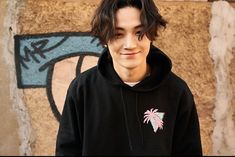
<instances>
[{"instance_id":1,"label":"black hood of the hoodie bunched around the man's neck","mask_svg":"<svg viewBox=\"0 0 235 157\"><path fill-rule=\"evenodd\" d=\"M124 86L134 91L144 92L157 88L162 82L164 82L164 80L167 79L172 68L172 63L169 57L153 45L150 47L150 52L147 56L147 63L150 65L150 75L133 87L126 85L116 73L107 48L104 49L101 57L99 58L98 70L99 73L111 84Z\"/></svg>"}]
</instances>

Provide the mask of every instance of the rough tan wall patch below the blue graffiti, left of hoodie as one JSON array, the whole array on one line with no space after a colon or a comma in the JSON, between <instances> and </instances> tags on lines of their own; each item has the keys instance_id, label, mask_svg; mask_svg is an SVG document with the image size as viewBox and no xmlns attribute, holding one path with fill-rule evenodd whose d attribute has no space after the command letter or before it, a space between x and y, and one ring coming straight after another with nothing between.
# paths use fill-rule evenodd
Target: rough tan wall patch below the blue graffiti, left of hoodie
<instances>
[{"instance_id":1,"label":"rough tan wall patch below the blue graffiti, left of hoodie","mask_svg":"<svg viewBox=\"0 0 235 157\"><path fill-rule=\"evenodd\" d=\"M50 109L46 89L25 89L24 101L30 113L34 135L32 155L54 155L58 122Z\"/></svg>"}]
</instances>

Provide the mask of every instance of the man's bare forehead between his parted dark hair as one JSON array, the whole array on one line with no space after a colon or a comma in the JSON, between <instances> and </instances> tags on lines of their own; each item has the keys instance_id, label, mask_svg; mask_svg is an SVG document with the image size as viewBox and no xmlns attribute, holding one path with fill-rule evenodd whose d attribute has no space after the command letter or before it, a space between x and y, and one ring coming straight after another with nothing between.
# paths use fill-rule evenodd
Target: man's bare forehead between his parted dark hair
<instances>
[{"instance_id":1,"label":"man's bare forehead between his parted dark hair","mask_svg":"<svg viewBox=\"0 0 235 157\"><path fill-rule=\"evenodd\" d=\"M116 28L131 29L139 25L141 25L139 9L125 7L116 12Z\"/></svg>"}]
</instances>

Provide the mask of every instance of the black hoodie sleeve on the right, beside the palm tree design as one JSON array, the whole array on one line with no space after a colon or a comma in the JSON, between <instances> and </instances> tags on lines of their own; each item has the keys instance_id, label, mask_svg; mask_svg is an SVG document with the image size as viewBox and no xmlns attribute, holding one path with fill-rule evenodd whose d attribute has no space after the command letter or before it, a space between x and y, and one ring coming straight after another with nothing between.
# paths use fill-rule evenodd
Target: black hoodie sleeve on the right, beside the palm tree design
<instances>
[{"instance_id":1,"label":"black hoodie sleeve on the right, beside the palm tree design","mask_svg":"<svg viewBox=\"0 0 235 157\"><path fill-rule=\"evenodd\" d=\"M198 114L187 85L179 104L172 150L172 155L202 156Z\"/></svg>"}]
</instances>

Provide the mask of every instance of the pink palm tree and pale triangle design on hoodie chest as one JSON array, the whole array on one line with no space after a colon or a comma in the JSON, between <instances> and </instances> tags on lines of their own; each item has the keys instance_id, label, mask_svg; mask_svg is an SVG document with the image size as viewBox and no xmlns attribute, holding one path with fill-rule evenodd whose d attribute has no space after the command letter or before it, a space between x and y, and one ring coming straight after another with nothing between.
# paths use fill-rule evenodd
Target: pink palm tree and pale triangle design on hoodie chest
<instances>
[{"instance_id":1,"label":"pink palm tree and pale triangle design on hoodie chest","mask_svg":"<svg viewBox=\"0 0 235 157\"><path fill-rule=\"evenodd\" d=\"M153 127L153 131L157 132L158 128L159 129L163 129L163 116L164 113L162 112L157 112L158 109L153 110L153 108L151 108L150 110L147 110L144 113L144 123L147 123L150 121Z\"/></svg>"}]
</instances>

